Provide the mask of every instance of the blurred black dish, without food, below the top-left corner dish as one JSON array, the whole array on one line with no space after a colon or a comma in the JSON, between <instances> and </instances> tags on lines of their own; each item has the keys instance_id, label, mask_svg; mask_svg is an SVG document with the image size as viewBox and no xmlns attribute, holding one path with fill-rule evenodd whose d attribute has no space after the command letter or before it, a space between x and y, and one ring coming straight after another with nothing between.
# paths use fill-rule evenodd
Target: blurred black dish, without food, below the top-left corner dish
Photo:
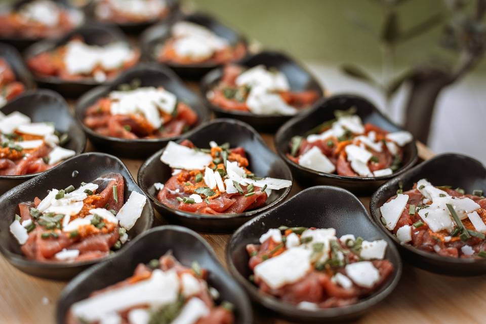
<instances>
[{"instance_id":1,"label":"blurred black dish, without food, below the top-left corner dish","mask_svg":"<svg viewBox=\"0 0 486 324\"><path fill-rule=\"evenodd\" d=\"M54 50L59 46L67 44L75 36L82 36L88 45L104 46L113 42L128 43L128 39L117 27L91 22L88 25L72 30L64 37L55 41L41 41L33 44L25 50L24 58L25 60L28 60L39 53ZM88 90L100 85L99 82L92 78L83 80L64 80L57 76L33 74L39 87L55 90L64 97L69 98L79 97ZM110 80L107 80L107 83L108 82L110 82Z\"/></svg>"}]
</instances>

